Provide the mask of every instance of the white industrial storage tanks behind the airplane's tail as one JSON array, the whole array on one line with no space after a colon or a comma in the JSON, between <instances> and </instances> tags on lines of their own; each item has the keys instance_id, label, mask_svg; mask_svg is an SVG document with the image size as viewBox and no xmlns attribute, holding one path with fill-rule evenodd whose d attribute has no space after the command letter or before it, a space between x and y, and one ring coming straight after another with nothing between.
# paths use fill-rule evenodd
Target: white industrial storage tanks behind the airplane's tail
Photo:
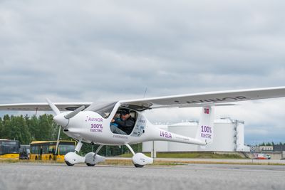
<instances>
[{"instance_id":1,"label":"white industrial storage tanks behind the airplane's tail","mask_svg":"<svg viewBox=\"0 0 285 190\"><path fill-rule=\"evenodd\" d=\"M195 138L199 122L180 122L174 125L157 125L162 130ZM143 142L142 152L249 152L244 145L244 122L230 117L214 120L214 142L206 147L177 142Z\"/></svg>"}]
</instances>

